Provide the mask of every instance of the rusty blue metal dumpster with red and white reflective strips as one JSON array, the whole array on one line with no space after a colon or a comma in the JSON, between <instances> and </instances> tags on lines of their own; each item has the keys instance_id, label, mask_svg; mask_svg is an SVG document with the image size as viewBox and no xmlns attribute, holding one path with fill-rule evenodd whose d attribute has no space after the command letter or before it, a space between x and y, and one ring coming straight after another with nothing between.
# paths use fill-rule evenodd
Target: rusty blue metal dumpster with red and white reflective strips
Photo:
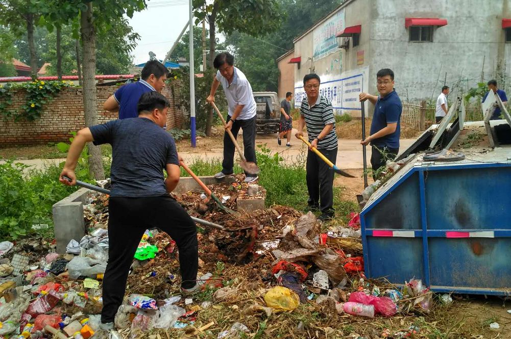
<instances>
[{"instance_id":1,"label":"rusty blue metal dumpster with red and white reflective strips","mask_svg":"<svg viewBox=\"0 0 511 339\"><path fill-rule=\"evenodd\" d=\"M511 148L415 156L360 213L365 275L434 292L511 295Z\"/></svg>"}]
</instances>

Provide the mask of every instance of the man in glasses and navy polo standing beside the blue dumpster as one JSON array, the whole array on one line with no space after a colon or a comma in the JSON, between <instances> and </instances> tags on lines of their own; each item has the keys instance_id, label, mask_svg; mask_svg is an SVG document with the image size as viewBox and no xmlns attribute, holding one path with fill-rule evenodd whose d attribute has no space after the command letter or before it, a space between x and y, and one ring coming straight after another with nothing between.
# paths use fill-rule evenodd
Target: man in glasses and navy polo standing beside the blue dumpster
<instances>
[{"instance_id":1,"label":"man in glasses and navy polo standing beside the blue dumpster","mask_svg":"<svg viewBox=\"0 0 511 339\"><path fill-rule=\"evenodd\" d=\"M383 68L376 74L379 96L360 93L360 101L369 100L375 105L373 123L369 136L360 143L371 144L371 167L373 179L381 176L379 168L384 167L387 160L392 160L399 152L399 135L401 132L401 112L403 107L398 93L394 89L394 72Z\"/></svg>"}]
</instances>

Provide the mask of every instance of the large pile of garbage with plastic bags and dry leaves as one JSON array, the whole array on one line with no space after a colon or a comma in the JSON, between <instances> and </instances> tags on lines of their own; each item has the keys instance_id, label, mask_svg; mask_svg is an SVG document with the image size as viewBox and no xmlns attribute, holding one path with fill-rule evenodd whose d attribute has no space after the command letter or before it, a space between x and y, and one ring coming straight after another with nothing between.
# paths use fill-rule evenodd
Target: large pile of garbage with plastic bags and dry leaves
<instances>
[{"instance_id":1,"label":"large pile of garbage with plastic bags and dry leaves","mask_svg":"<svg viewBox=\"0 0 511 339\"><path fill-rule=\"evenodd\" d=\"M238 185L211 188L218 196L229 196L226 204L229 201L235 209L242 191L236 189ZM135 254L124 303L115 316L113 337L157 338L161 330L189 337L202 333L237 338L257 331L262 318L285 326L272 314L286 311L316 312L324 317L322 322L332 323L339 317L424 314L432 307L432 294L420 280L412 279L398 289L365 279L357 214L347 227L321 232L312 212L303 215L290 207L272 206L233 216L200 193L176 198L190 214L205 220L233 228L256 225L252 256L243 265L233 263L229 249L220 246L229 234L199 229L200 292L182 296L175 242L166 233L147 230ZM87 202L87 235L70 241L65 255L55 253L55 244L43 240L0 243L0 337L96 336L108 259L108 200L91 194ZM231 321L228 325L225 317ZM300 321L292 330L305 333L313 328ZM409 331L389 332L386 337L405 337Z\"/></svg>"}]
</instances>

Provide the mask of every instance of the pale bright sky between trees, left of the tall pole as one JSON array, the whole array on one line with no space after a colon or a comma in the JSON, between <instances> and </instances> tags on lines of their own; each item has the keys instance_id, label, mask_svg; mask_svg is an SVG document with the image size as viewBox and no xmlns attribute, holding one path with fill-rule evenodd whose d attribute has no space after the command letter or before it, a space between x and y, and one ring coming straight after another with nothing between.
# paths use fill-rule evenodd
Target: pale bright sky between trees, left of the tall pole
<instances>
[{"instance_id":1,"label":"pale bright sky between trees, left of the tall pole","mask_svg":"<svg viewBox=\"0 0 511 339\"><path fill-rule=\"evenodd\" d=\"M149 60L149 51L165 58L189 19L188 0L151 0L148 8L135 12L130 21L141 39L133 51L135 64Z\"/></svg>"}]
</instances>

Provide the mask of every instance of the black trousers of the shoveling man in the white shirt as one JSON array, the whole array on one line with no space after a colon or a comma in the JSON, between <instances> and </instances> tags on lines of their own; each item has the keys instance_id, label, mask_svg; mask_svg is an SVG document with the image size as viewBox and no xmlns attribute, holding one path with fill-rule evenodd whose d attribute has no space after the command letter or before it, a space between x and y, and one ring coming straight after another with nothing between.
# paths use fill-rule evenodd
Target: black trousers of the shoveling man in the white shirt
<instances>
[{"instance_id":1,"label":"black trousers of the shoveling man in the white shirt","mask_svg":"<svg viewBox=\"0 0 511 339\"><path fill-rule=\"evenodd\" d=\"M230 121L230 116L227 117L227 123ZM230 129L235 138L238 137L240 128L243 130L243 155L247 161L257 163L255 159L255 116L247 120L235 120L233 127ZM234 171L234 152L236 148L233 140L230 139L227 132L224 133L224 159L222 161L222 172L224 174L232 174ZM247 176L255 176L252 173L245 173Z\"/></svg>"}]
</instances>

